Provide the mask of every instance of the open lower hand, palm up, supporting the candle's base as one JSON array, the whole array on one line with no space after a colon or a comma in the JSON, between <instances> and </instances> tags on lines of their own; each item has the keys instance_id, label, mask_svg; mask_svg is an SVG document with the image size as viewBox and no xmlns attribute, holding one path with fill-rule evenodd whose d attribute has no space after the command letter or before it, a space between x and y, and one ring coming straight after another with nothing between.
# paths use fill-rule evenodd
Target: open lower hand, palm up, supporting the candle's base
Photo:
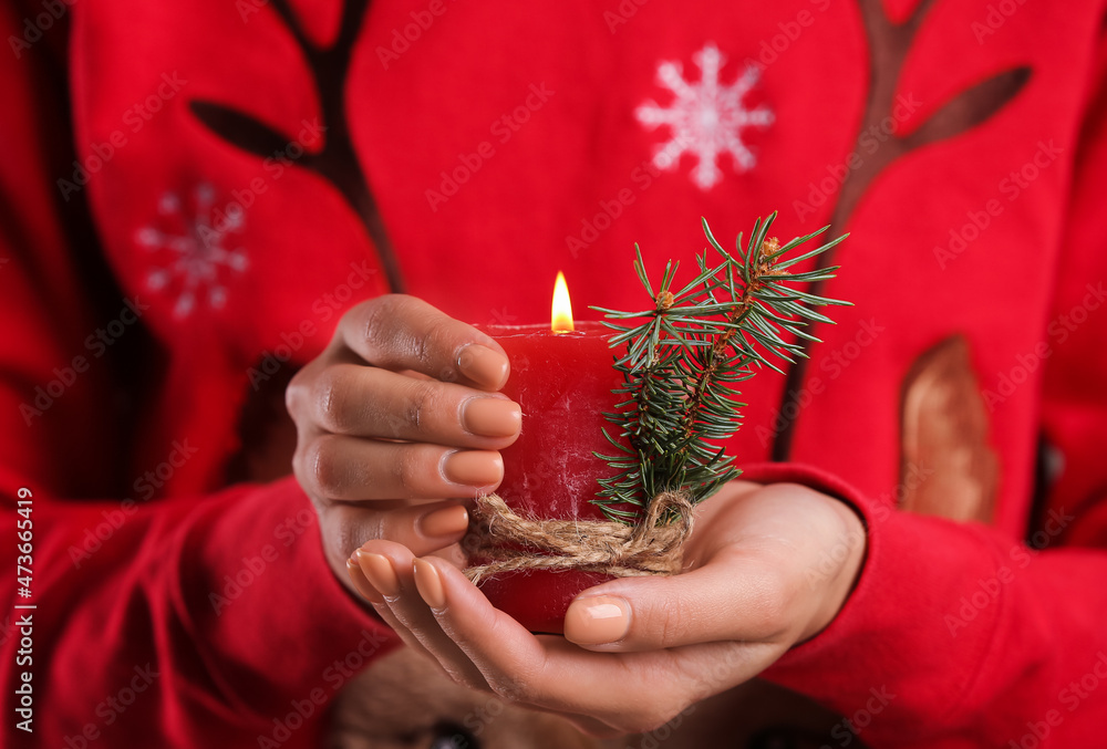
<instances>
[{"instance_id":1,"label":"open lower hand, palm up, supporting the candle's base","mask_svg":"<svg viewBox=\"0 0 1107 749\"><path fill-rule=\"evenodd\" d=\"M696 512L685 569L581 593L565 638L535 636L452 564L370 541L351 578L455 680L561 714L594 735L640 732L759 674L837 615L865 555L844 502L733 482Z\"/></svg>"}]
</instances>

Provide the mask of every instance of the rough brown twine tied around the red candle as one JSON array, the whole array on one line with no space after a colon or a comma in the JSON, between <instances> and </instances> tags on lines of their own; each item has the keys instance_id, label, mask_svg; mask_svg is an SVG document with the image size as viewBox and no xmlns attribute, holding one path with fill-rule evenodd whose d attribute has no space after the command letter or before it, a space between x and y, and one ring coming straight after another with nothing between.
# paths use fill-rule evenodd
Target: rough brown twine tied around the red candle
<instances>
[{"instance_id":1,"label":"rough brown twine tied around the red candle","mask_svg":"<svg viewBox=\"0 0 1107 749\"><path fill-rule=\"evenodd\" d=\"M669 511L672 522L659 526ZM524 518L499 496L477 498L463 548L490 560L465 570L474 583L515 570L583 570L615 578L671 575L684 563L684 541L692 534L692 502L665 491L650 502L637 526L606 520Z\"/></svg>"}]
</instances>

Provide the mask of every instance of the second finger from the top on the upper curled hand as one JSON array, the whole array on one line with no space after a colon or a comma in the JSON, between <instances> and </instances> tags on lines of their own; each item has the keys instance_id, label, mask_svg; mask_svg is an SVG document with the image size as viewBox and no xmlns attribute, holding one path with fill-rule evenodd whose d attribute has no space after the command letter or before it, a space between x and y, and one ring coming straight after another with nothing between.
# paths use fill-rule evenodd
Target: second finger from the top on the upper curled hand
<instances>
[{"instance_id":1,"label":"second finger from the top on the upper curled hand","mask_svg":"<svg viewBox=\"0 0 1107 749\"><path fill-rule=\"evenodd\" d=\"M501 395L356 364L314 383L313 420L333 434L500 449L519 435L523 410Z\"/></svg>"}]
</instances>

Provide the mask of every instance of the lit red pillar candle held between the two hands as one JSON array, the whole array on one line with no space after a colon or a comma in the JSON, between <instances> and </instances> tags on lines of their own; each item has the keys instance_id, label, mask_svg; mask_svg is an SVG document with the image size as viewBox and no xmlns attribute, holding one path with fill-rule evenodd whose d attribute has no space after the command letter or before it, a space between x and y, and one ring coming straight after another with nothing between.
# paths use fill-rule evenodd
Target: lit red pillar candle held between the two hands
<instances>
[{"instance_id":1,"label":"lit red pillar candle held between the two hands","mask_svg":"<svg viewBox=\"0 0 1107 749\"><path fill-rule=\"evenodd\" d=\"M614 410L619 397L611 391L622 376L612 367L609 329L578 323L572 330L571 316L571 332L565 332L565 324L561 332L548 325L484 327L511 362L504 394L523 408L523 431L501 451L504 481L497 493L525 517L603 520L591 500L600 489L598 480L612 469L593 451L615 450L603 436L603 427L610 431L611 425L602 414ZM529 570L498 573L482 581L480 590L531 632L561 634L572 599L606 580L608 575L578 570Z\"/></svg>"}]
</instances>

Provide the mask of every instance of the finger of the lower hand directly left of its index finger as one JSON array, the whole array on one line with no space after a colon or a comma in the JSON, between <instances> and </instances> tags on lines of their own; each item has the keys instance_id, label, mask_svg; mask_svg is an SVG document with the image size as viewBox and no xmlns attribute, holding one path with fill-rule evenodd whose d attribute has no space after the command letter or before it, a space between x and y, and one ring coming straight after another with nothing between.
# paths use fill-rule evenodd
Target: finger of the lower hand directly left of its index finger
<instances>
[{"instance_id":1,"label":"finger of the lower hand directly left of its index finger","mask_svg":"<svg viewBox=\"0 0 1107 749\"><path fill-rule=\"evenodd\" d=\"M377 612L405 642L414 641L455 682L474 689L488 689L480 672L438 626L420 597L414 575L415 556L410 549L386 541L371 541L354 558L365 578L380 591Z\"/></svg>"}]
</instances>

